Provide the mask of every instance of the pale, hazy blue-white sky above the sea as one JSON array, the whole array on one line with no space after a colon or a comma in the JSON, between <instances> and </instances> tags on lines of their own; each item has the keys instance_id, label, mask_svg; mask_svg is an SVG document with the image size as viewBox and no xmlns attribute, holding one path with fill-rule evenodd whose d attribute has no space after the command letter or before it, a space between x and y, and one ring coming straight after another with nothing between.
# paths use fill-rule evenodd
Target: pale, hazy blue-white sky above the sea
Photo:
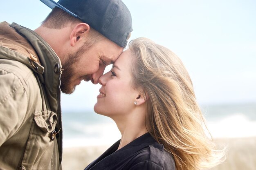
<instances>
[{"instance_id":1,"label":"pale, hazy blue-white sky above the sea","mask_svg":"<svg viewBox=\"0 0 256 170\"><path fill-rule=\"evenodd\" d=\"M40 0L0 0L0 22L36 29L51 11ZM123 0L130 40L146 37L176 53L199 104L256 102L255 0ZM106 70L110 70L108 66ZM82 82L62 94L63 110L92 110L100 85Z\"/></svg>"}]
</instances>

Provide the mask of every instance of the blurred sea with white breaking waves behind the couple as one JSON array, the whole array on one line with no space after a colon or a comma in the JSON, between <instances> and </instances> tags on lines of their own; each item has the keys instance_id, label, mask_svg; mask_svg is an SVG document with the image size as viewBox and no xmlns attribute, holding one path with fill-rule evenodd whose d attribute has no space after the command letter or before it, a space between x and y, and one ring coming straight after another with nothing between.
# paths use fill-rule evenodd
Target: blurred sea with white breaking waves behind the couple
<instances>
[{"instance_id":1,"label":"blurred sea with white breaking waves behind the couple","mask_svg":"<svg viewBox=\"0 0 256 170\"><path fill-rule=\"evenodd\" d=\"M213 138L256 137L256 103L201 106ZM121 138L115 122L93 110L63 110L63 146L111 145Z\"/></svg>"}]
</instances>

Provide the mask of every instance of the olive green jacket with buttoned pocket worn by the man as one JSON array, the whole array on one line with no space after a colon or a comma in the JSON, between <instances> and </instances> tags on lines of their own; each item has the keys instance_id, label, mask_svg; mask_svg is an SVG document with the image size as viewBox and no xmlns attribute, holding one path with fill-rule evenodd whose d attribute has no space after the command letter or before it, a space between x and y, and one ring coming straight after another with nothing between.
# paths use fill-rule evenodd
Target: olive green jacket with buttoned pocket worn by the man
<instances>
[{"instance_id":1,"label":"olive green jacket with buttoned pocket worn by the man","mask_svg":"<svg viewBox=\"0 0 256 170\"><path fill-rule=\"evenodd\" d=\"M60 77L39 35L0 23L0 170L61 170Z\"/></svg>"}]
</instances>

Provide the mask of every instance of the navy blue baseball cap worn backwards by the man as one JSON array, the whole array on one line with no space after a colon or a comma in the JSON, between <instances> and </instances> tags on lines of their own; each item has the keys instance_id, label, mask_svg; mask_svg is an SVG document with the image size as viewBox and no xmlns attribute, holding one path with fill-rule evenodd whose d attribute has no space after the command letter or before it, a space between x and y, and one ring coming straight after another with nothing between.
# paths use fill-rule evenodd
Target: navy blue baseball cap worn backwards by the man
<instances>
[{"instance_id":1,"label":"navy blue baseball cap worn backwards by the man","mask_svg":"<svg viewBox=\"0 0 256 170\"><path fill-rule=\"evenodd\" d=\"M40 0L53 9L58 7L89 24L121 47L126 47L132 31L130 11L121 0Z\"/></svg>"}]
</instances>

